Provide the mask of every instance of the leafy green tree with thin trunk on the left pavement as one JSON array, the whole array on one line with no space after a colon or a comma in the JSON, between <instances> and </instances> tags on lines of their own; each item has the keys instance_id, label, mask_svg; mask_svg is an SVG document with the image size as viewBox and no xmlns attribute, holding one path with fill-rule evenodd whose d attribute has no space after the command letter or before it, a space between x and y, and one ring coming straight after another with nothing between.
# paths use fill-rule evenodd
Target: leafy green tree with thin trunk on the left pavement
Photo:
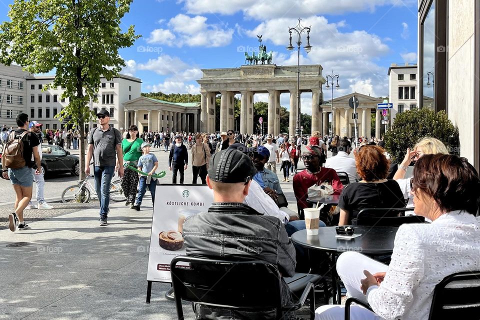
<instances>
[{"instance_id":1,"label":"leafy green tree with thin trunk on the left pavement","mask_svg":"<svg viewBox=\"0 0 480 320\"><path fill-rule=\"evenodd\" d=\"M31 73L55 70L53 83L65 88L69 104L57 114L78 127L94 116L88 102L97 102L100 76L110 80L125 65L118 49L139 37L132 25L125 32L120 20L132 0L14 0L10 21L0 25L0 62L13 61ZM80 177L84 177L84 146L80 141Z\"/></svg>"}]
</instances>

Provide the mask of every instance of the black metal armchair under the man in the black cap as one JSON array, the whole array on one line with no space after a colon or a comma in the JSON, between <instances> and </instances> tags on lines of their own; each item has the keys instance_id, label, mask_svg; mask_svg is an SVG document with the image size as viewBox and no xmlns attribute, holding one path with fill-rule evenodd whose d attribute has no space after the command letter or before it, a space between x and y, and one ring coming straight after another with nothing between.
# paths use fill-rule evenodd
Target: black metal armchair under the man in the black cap
<instances>
[{"instance_id":1,"label":"black metal armchair under the man in the black cap","mask_svg":"<svg viewBox=\"0 0 480 320\"><path fill-rule=\"evenodd\" d=\"M188 266L177 265L186 262ZM195 256L176 256L170 263L171 280L179 320L183 320L181 300L235 310L266 311L276 309L278 319L283 312L299 309L310 298L310 319L315 317L314 285L319 275L295 275L284 278L293 303L282 305L281 275L271 263L226 261ZM297 282L298 281L298 282ZM300 283L301 282L301 283Z\"/></svg>"}]
</instances>

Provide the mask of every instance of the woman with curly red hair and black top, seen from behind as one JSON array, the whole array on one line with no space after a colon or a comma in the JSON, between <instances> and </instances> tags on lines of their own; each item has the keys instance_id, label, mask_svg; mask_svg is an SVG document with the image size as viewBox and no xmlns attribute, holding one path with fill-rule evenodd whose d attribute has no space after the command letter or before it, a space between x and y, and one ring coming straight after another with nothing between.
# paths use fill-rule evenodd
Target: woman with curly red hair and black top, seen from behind
<instances>
[{"instance_id":1,"label":"woman with curly red hair and black top, seen from behind","mask_svg":"<svg viewBox=\"0 0 480 320\"><path fill-rule=\"evenodd\" d=\"M386 179L390 161L383 154L382 148L363 145L356 152L355 160L356 170L362 180L343 187L338 202L338 225L356 224L356 216L361 209L405 206L398 183Z\"/></svg>"}]
</instances>

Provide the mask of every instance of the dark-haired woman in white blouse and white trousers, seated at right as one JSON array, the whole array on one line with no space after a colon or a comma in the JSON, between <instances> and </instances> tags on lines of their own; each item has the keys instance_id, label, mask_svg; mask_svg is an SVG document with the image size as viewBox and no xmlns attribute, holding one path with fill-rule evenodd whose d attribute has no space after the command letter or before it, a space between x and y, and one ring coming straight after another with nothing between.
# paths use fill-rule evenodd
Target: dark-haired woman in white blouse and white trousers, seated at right
<instances>
[{"instance_id":1,"label":"dark-haired woman in white blouse and white trousers, seated at right","mask_svg":"<svg viewBox=\"0 0 480 320\"><path fill-rule=\"evenodd\" d=\"M344 252L336 268L348 296L368 302L375 313L352 305L350 318L428 318L433 289L445 276L480 268L480 179L465 158L425 154L415 164L414 212L431 223L403 224L389 265ZM343 306L322 305L317 320L343 318Z\"/></svg>"}]
</instances>

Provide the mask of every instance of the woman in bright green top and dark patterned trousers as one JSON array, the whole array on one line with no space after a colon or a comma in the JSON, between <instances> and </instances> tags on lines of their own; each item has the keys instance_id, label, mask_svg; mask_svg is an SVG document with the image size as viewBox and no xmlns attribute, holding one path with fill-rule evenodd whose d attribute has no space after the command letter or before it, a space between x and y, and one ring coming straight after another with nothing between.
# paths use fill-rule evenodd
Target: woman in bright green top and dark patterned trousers
<instances>
[{"instance_id":1,"label":"woman in bright green top and dark patterned trousers","mask_svg":"<svg viewBox=\"0 0 480 320\"><path fill-rule=\"evenodd\" d=\"M140 135L138 134L138 128L136 127L136 125L130 125L126 137L121 141L121 149L123 150L124 162L130 162L130 165L133 167L137 166L138 159L142 154L142 142L143 140L140 139ZM129 168L125 168L120 183L121 188L123 189L123 193L126 196L125 205L132 206L133 204L135 204L136 185L138 184L138 173Z\"/></svg>"}]
</instances>

